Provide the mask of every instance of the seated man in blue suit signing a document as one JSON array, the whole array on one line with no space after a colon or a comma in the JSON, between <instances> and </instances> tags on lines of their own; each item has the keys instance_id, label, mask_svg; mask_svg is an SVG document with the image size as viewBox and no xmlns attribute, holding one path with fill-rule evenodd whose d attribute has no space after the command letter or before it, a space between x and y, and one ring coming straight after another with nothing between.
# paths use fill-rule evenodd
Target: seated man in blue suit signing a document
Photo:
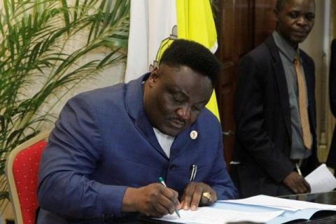
<instances>
[{"instance_id":1,"label":"seated man in blue suit signing a document","mask_svg":"<svg viewBox=\"0 0 336 224\"><path fill-rule=\"evenodd\" d=\"M161 217L235 198L221 125L204 108L219 72L207 48L177 40L151 73L70 99L43 152L38 223Z\"/></svg>"}]
</instances>

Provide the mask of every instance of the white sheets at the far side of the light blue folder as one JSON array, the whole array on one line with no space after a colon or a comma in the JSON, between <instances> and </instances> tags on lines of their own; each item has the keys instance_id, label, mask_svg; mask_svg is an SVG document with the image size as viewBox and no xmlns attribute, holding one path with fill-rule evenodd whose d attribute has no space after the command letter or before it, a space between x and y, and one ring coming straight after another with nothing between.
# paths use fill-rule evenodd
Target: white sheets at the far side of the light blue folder
<instances>
[{"instance_id":1,"label":"white sheets at the far side of the light blue folder","mask_svg":"<svg viewBox=\"0 0 336 224\"><path fill-rule=\"evenodd\" d=\"M336 210L335 205L319 204L314 202L304 202L298 200L289 200L280 197L272 197L267 195L256 195L253 197L247 197L239 200L225 200L218 202L229 202L237 204L250 204L262 207L272 207L276 209L283 209L287 211L297 211L301 209L324 209L324 210Z\"/></svg>"}]
</instances>

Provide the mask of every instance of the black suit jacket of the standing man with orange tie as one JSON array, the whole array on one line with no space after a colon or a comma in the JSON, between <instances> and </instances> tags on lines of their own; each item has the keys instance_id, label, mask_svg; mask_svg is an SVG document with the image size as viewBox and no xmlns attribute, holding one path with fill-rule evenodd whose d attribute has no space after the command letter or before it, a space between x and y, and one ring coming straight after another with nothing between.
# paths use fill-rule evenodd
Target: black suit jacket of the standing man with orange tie
<instances>
[{"instance_id":1,"label":"black suit jacket of the standing man with orange tie","mask_svg":"<svg viewBox=\"0 0 336 224\"><path fill-rule=\"evenodd\" d=\"M300 50L309 102L309 123L313 135L312 154L302 167L311 172L316 157L316 106L314 62ZM295 165L290 161L291 123L288 87L279 49L274 38L245 55L237 72L235 95L236 139L232 179L240 197L279 195L279 188ZM289 189L288 189L289 190Z\"/></svg>"}]
</instances>

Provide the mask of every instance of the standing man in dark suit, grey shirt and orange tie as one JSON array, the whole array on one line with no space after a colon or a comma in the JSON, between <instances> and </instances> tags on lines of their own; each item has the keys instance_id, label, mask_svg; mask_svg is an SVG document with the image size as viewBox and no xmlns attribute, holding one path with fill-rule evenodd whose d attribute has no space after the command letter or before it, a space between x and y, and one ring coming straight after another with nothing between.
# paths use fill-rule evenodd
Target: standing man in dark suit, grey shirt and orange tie
<instances>
[{"instance_id":1,"label":"standing man in dark suit, grey shirt and orange tie","mask_svg":"<svg viewBox=\"0 0 336 224\"><path fill-rule=\"evenodd\" d=\"M278 0L274 14L276 30L237 72L232 179L241 197L307 193L300 174L318 165L314 62L298 47L315 2Z\"/></svg>"}]
</instances>

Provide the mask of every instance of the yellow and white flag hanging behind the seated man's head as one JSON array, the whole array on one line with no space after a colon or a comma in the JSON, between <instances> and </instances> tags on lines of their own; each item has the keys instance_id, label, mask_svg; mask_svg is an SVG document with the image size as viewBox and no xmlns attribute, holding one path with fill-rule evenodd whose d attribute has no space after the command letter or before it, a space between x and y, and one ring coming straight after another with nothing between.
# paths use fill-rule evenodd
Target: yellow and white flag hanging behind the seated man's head
<instances>
[{"instance_id":1,"label":"yellow and white flag hanging behind the seated man's head","mask_svg":"<svg viewBox=\"0 0 336 224\"><path fill-rule=\"evenodd\" d=\"M209 0L131 0L125 82L151 71L176 38L201 43L216 52L217 34ZM207 108L219 120L215 92Z\"/></svg>"}]
</instances>

